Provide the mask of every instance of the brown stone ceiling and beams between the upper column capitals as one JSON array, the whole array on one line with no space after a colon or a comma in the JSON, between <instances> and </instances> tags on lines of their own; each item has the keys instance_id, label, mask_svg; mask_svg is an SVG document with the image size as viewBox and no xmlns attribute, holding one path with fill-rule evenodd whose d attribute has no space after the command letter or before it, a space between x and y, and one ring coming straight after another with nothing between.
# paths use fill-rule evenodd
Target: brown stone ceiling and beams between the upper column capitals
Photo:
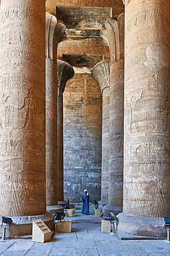
<instances>
[{"instance_id":1,"label":"brown stone ceiling and beams between the upper column capitals","mask_svg":"<svg viewBox=\"0 0 170 256\"><path fill-rule=\"evenodd\" d=\"M122 0L46 0L46 11L67 28L67 40L58 46L59 59L89 72L98 62L109 59L109 47L100 30L109 17L124 11Z\"/></svg>"}]
</instances>

